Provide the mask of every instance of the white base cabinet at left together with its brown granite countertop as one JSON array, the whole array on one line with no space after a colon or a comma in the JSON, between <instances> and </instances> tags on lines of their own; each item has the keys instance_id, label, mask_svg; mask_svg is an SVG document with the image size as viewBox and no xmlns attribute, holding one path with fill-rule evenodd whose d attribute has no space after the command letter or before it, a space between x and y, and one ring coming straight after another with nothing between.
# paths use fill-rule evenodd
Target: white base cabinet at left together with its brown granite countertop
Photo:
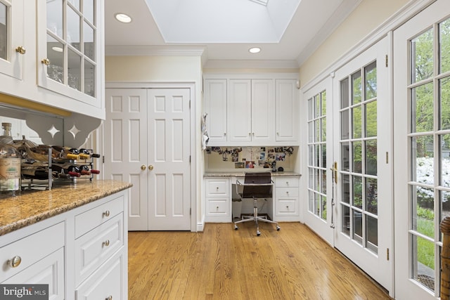
<instances>
[{"instance_id":1,"label":"white base cabinet at left together with its brown granite countertop","mask_svg":"<svg viewBox=\"0 0 450 300\"><path fill-rule=\"evenodd\" d=\"M77 181L1 198L0 283L49 285L50 299L127 299L130 187Z\"/></svg>"}]
</instances>

